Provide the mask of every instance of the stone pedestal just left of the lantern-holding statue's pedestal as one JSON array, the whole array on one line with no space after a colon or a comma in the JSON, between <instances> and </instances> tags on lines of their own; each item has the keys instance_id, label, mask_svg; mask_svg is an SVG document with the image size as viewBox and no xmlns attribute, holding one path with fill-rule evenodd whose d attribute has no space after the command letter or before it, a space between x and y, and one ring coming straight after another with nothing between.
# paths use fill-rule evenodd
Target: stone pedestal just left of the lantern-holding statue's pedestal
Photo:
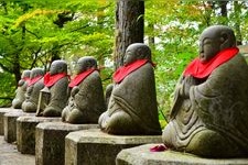
<instances>
[{"instance_id":1,"label":"stone pedestal just left of the lantern-holding statue's pedestal","mask_svg":"<svg viewBox=\"0 0 248 165\"><path fill-rule=\"evenodd\" d=\"M22 116L35 116L35 113L25 113L22 110L7 112L3 116L4 140L8 143L17 141L17 119Z\"/></svg>"}]
</instances>

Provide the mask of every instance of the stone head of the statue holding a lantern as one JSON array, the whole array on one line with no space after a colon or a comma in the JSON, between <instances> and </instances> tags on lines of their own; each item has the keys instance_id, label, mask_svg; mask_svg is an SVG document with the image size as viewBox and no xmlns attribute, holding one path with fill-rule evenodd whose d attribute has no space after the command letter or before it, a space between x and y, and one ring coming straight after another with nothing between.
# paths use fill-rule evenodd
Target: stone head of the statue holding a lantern
<instances>
[{"instance_id":1,"label":"stone head of the statue holding a lantern","mask_svg":"<svg viewBox=\"0 0 248 165\"><path fill-rule=\"evenodd\" d=\"M65 61L58 59L58 61L54 61L51 65L50 68L50 74L52 75L56 75L56 74L62 74L65 73L67 74L67 64Z\"/></svg>"}]
</instances>

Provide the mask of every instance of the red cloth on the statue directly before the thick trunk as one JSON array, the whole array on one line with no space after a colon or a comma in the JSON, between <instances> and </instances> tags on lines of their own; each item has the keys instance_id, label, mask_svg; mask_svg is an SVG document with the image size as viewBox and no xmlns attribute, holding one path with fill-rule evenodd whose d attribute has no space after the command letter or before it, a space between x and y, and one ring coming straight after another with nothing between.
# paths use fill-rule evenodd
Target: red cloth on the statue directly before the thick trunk
<instances>
[{"instance_id":1,"label":"red cloth on the statue directly before the thick trunk","mask_svg":"<svg viewBox=\"0 0 248 165\"><path fill-rule=\"evenodd\" d=\"M117 84L121 82L125 79L125 77L127 77L129 74L137 70L138 68L140 68L141 66L143 66L147 63L149 63L148 59L138 59L129 65L119 67L114 73L114 81Z\"/></svg>"}]
</instances>

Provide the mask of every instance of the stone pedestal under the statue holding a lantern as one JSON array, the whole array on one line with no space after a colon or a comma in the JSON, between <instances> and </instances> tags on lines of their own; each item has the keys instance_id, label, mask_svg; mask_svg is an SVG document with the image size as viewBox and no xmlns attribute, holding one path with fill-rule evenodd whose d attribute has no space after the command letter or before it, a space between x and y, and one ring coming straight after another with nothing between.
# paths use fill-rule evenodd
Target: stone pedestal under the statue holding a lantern
<instances>
[{"instance_id":1,"label":"stone pedestal under the statue holding a lantern","mask_svg":"<svg viewBox=\"0 0 248 165\"><path fill-rule=\"evenodd\" d=\"M58 122L61 118L19 117L17 120L18 151L35 154L35 127L41 122Z\"/></svg>"}]
</instances>

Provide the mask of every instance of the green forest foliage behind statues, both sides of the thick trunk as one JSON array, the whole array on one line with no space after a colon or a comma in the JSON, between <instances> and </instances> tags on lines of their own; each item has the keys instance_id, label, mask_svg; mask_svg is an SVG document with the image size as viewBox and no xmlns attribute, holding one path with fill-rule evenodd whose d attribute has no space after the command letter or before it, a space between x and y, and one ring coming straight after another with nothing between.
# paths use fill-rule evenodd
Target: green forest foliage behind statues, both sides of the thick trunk
<instances>
[{"instance_id":1,"label":"green forest foliage behind statues, both sides of the thick trunk","mask_svg":"<svg viewBox=\"0 0 248 165\"><path fill-rule=\"evenodd\" d=\"M82 56L98 61L104 87L115 72L114 0L0 1L0 107L10 107L24 69L48 70L65 59L73 75ZM157 64L160 119L168 118L171 94L186 64L197 56L198 36L213 24L235 30L238 45L248 41L246 1L144 1L144 43ZM164 120L165 121L165 120Z\"/></svg>"}]
</instances>

